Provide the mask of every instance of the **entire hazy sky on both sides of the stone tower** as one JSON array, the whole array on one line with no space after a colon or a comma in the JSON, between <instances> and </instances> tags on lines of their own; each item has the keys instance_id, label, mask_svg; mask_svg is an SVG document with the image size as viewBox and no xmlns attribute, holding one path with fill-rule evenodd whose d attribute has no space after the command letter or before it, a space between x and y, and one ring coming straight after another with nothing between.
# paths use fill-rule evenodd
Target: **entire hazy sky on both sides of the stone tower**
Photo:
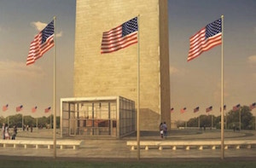
<instances>
[{"instance_id":1,"label":"entire hazy sky on both sides of the stone tower","mask_svg":"<svg viewBox=\"0 0 256 168\"><path fill-rule=\"evenodd\" d=\"M218 116L221 98L221 45L187 61L189 38L224 15L224 104L256 101L256 1L168 0L169 58L172 120L207 114ZM35 64L26 66L35 35L56 16L57 115L60 98L73 96L73 59L76 2L74 0L0 1L0 116L20 113L48 116L53 106L53 58L50 49ZM38 107L32 113L32 107ZM180 109L186 107L185 113ZM199 112L193 113L195 107ZM256 111L253 111L256 115Z\"/></svg>"}]
</instances>

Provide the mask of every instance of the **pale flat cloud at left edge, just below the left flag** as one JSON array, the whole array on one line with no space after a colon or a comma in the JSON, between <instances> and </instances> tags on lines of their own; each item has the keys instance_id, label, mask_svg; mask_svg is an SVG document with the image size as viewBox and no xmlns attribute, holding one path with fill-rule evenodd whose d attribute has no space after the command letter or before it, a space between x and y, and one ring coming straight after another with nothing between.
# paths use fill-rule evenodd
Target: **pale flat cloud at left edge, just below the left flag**
<instances>
[{"instance_id":1,"label":"pale flat cloud at left edge, just below the left flag","mask_svg":"<svg viewBox=\"0 0 256 168\"><path fill-rule=\"evenodd\" d=\"M0 77L4 78L37 78L45 75L41 67L31 65L26 67L26 62L0 61Z\"/></svg>"}]
</instances>

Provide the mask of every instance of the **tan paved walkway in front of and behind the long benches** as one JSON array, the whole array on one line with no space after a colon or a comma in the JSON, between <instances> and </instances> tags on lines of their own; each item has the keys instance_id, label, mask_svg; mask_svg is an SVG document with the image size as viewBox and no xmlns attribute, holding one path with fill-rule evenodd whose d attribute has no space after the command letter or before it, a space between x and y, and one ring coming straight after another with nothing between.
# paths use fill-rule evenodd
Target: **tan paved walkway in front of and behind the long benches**
<instances>
[{"instance_id":1,"label":"tan paved walkway in front of and behind the long benches","mask_svg":"<svg viewBox=\"0 0 256 168\"><path fill-rule=\"evenodd\" d=\"M19 131L17 139L52 139L52 130L34 130L33 132ZM224 133L226 140L244 140L244 139L256 139L255 130L241 130L233 132L227 130ZM57 134L57 139L60 138ZM166 138L168 141L194 141L194 140L220 140L219 130L171 130L169 136ZM73 149L57 149L57 158L75 158L75 159L137 159L137 150L131 151L130 147L126 146L127 141L137 140L136 134L126 136L120 140L99 140L99 139L84 139L84 145L78 150ZM158 132L141 132L141 141L152 140L159 141L160 136ZM166 140L162 140L166 141ZM11 157L24 157L24 156L37 156L37 157L53 157L53 149L35 149L35 148L0 148L2 156ZM256 147L251 149L241 148L229 148L224 151L225 158L246 158L256 157ZM190 149L186 151L184 149L149 149L148 151L140 150L141 159L200 159L200 158L221 158L221 150L212 149Z\"/></svg>"}]
</instances>

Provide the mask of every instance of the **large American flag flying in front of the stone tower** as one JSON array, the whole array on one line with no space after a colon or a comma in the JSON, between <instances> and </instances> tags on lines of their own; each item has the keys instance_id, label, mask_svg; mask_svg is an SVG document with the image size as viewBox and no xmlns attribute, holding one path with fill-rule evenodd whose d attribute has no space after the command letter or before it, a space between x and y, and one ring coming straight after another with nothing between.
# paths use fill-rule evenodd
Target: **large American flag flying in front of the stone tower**
<instances>
[{"instance_id":1,"label":"large American flag flying in front of the stone tower","mask_svg":"<svg viewBox=\"0 0 256 168\"><path fill-rule=\"evenodd\" d=\"M137 17L102 34L102 54L124 49L137 43Z\"/></svg>"}]
</instances>

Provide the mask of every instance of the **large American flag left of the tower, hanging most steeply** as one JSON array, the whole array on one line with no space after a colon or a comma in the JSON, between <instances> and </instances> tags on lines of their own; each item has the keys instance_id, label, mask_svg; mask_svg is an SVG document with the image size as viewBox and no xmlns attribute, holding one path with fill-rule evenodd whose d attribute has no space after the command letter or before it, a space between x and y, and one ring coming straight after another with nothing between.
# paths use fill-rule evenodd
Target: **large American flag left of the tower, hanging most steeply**
<instances>
[{"instance_id":1,"label":"large American flag left of the tower, hanging most steeply","mask_svg":"<svg viewBox=\"0 0 256 168\"><path fill-rule=\"evenodd\" d=\"M30 43L30 49L26 58L26 66L34 63L38 58L43 56L46 51L55 45L54 32L54 20L52 20L43 31L39 32L38 35L35 36L32 43Z\"/></svg>"}]
</instances>

